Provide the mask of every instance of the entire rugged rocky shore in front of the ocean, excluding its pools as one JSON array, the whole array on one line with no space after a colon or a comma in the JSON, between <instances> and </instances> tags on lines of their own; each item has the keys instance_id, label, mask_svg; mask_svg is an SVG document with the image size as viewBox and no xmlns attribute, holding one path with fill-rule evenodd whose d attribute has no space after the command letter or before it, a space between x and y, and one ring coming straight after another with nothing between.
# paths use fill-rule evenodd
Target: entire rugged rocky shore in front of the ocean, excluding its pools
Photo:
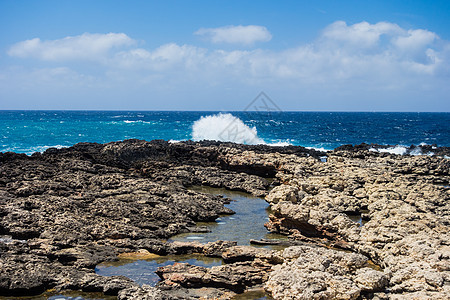
<instances>
[{"instance_id":1,"label":"entire rugged rocky shore in front of the ocean, excluding its pools","mask_svg":"<svg viewBox=\"0 0 450 300\"><path fill-rule=\"evenodd\" d=\"M450 161L442 156L450 149L400 156L377 147L386 148L127 140L0 153L0 296L55 289L229 299L261 287L275 299L448 299ZM290 247L167 242L233 213L227 199L193 185L266 197L266 227L288 235ZM225 263L160 268L157 287L95 273L124 253L201 253Z\"/></svg>"}]
</instances>

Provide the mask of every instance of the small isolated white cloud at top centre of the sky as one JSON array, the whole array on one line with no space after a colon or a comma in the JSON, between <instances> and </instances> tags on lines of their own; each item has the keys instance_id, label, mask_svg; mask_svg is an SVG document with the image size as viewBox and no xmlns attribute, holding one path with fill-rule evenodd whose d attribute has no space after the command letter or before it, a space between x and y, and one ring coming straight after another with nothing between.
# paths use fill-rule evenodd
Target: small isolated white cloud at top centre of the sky
<instances>
[{"instance_id":1,"label":"small isolated white cloud at top centre of the sky","mask_svg":"<svg viewBox=\"0 0 450 300\"><path fill-rule=\"evenodd\" d=\"M272 39L264 26L224 26L218 28L201 28L194 34L204 36L213 43L253 45L256 42L268 42Z\"/></svg>"}]
</instances>

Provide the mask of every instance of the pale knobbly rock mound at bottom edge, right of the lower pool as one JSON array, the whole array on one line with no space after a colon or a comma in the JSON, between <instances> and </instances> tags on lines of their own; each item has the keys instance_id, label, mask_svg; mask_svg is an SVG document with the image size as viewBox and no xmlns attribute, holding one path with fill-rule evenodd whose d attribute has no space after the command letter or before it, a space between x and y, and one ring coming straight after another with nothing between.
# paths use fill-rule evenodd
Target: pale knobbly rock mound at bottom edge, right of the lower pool
<instances>
[{"instance_id":1,"label":"pale knobbly rock mound at bottom edge, right of the lower pool","mask_svg":"<svg viewBox=\"0 0 450 300\"><path fill-rule=\"evenodd\" d=\"M368 268L367 257L313 246L283 251L266 289L275 299L358 299L383 290L389 275Z\"/></svg>"}]
</instances>

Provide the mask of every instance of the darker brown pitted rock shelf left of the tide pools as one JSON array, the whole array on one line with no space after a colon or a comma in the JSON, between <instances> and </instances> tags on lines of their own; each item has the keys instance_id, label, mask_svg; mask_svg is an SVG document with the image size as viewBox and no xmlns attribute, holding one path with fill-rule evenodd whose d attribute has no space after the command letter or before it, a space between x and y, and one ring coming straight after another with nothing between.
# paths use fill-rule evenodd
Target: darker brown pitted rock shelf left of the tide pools
<instances>
[{"instance_id":1,"label":"darker brown pitted rock shelf left of the tide pools","mask_svg":"<svg viewBox=\"0 0 450 300\"><path fill-rule=\"evenodd\" d=\"M318 155L300 147L139 140L80 143L32 156L0 153L0 295L137 288L126 278L94 273L122 252L220 256L234 244L164 239L232 213L223 206L227 199L187 186L266 194L269 182L257 175L274 174L273 168L229 165L233 151Z\"/></svg>"}]
</instances>

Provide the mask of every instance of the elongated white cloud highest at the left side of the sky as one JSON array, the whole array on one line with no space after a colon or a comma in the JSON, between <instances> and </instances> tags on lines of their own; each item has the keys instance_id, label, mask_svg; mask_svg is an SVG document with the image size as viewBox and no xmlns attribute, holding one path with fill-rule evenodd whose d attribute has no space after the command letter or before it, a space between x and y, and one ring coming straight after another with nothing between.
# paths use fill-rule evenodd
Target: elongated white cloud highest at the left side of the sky
<instances>
[{"instance_id":1,"label":"elongated white cloud highest at the left side of the sky","mask_svg":"<svg viewBox=\"0 0 450 300\"><path fill-rule=\"evenodd\" d=\"M103 59L114 48L133 45L134 41L124 33L68 36L59 40L42 41L39 38L14 44L10 56L38 58L46 61Z\"/></svg>"}]
</instances>

